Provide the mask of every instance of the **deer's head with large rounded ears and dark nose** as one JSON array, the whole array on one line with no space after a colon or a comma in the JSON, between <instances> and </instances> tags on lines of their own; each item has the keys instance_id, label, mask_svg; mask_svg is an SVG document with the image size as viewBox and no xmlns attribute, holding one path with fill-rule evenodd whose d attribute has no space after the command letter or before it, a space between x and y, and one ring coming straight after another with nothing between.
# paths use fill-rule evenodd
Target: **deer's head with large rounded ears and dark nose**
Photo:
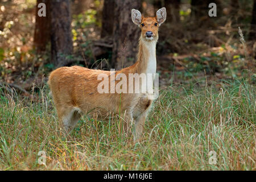
<instances>
[{"instance_id":1,"label":"deer's head with large rounded ears and dark nose","mask_svg":"<svg viewBox=\"0 0 256 182\"><path fill-rule=\"evenodd\" d=\"M141 39L146 41L158 40L158 28L166 20L166 8L156 11L155 17L144 17L138 10L131 10L133 23L141 28Z\"/></svg>"}]
</instances>

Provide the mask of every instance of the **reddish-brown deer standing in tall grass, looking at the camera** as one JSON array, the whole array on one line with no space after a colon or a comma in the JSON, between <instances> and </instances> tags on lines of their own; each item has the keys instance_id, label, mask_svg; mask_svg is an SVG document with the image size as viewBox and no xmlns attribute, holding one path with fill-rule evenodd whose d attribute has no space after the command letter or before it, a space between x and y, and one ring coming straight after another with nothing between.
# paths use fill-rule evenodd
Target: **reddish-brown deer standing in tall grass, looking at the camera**
<instances>
[{"instance_id":1,"label":"reddish-brown deer standing in tall grass, looking at the camera","mask_svg":"<svg viewBox=\"0 0 256 182\"><path fill-rule=\"evenodd\" d=\"M134 73L156 73L156 43L159 27L166 20L166 8L162 7L154 17L144 17L139 10L131 10L131 20L141 28L138 55L135 64L114 71L126 75ZM141 139L147 115L152 108L152 100L147 93L99 93L99 75L111 77L111 71L88 69L79 66L60 67L49 75L48 85L53 97L59 121L66 133L70 133L83 114L90 118L108 119L119 115L127 132L134 123L134 142ZM118 79L114 80L118 82ZM109 80L109 83L111 79ZM110 83L111 84L111 83ZM127 83L127 85L132 85ZM142 86L142 85L141 85ZM111 88L109 88L111 89Z\"/></svg>"}]
</instances>

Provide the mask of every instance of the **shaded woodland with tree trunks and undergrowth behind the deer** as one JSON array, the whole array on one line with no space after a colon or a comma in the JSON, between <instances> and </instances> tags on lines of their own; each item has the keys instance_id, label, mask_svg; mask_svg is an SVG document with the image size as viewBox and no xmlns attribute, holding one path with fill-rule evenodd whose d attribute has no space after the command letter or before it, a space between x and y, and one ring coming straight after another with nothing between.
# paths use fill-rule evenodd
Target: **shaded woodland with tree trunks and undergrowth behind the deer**
<instances>
[{"instance_id":1,"label":"shaded woodland with tree trunks and undergrowth behind the deer","mask_svg":"<svg viewBox=\"0 0 256 182\"><path fill-rule=\"evenodd\" d=\"M44 2L47 16L37 15ZM208 16L210 2L217 17ZM160 85L243 77L255 84L255 0L1 0L0 81L29 91L61 66L120 69L136 61L140 30L131 9L155 16L160 27ZM238 27L241 28L240 33ZM43 81L42 81L43 80Z\"/></svg>"}]
</instances>

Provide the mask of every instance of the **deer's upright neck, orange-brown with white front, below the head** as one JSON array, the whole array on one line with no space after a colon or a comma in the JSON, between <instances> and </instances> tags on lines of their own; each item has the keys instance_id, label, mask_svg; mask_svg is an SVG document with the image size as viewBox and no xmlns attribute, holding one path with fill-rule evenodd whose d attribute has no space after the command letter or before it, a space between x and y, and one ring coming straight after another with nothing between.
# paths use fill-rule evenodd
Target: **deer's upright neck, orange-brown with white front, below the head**
<instances>
[{"instance_id":1,"label":"deer's upright neck, orange-brown with white front, below the head","mask_svg":"<svg viewBox=\"0 0 256 182\"><path fill-rule=\"evenodd\" d=\"M135 66L135 73L156 73L156 40L139 40L138 60Z\"/></svg>"}]
</instances>

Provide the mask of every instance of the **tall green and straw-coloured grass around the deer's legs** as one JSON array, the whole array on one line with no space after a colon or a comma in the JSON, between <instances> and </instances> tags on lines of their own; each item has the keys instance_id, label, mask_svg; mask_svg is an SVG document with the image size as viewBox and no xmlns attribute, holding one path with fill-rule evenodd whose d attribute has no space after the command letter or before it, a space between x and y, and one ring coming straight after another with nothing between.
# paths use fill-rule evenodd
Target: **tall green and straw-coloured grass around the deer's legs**
<instances>
[{"instance_id":1,"label":"tall green and straw-coloured grass around the deer's legs","mask_svg":"<svg viewBox=\"0 0 256 182\"><path fill-rule=\"evenodd\" d=\"M135 145L112 119L83 117L65 138L46 86L36 101L1 89L0 169L255 170L255 87L244 80L198 85L161 90Z\"/></svg>"}]
</instances>

